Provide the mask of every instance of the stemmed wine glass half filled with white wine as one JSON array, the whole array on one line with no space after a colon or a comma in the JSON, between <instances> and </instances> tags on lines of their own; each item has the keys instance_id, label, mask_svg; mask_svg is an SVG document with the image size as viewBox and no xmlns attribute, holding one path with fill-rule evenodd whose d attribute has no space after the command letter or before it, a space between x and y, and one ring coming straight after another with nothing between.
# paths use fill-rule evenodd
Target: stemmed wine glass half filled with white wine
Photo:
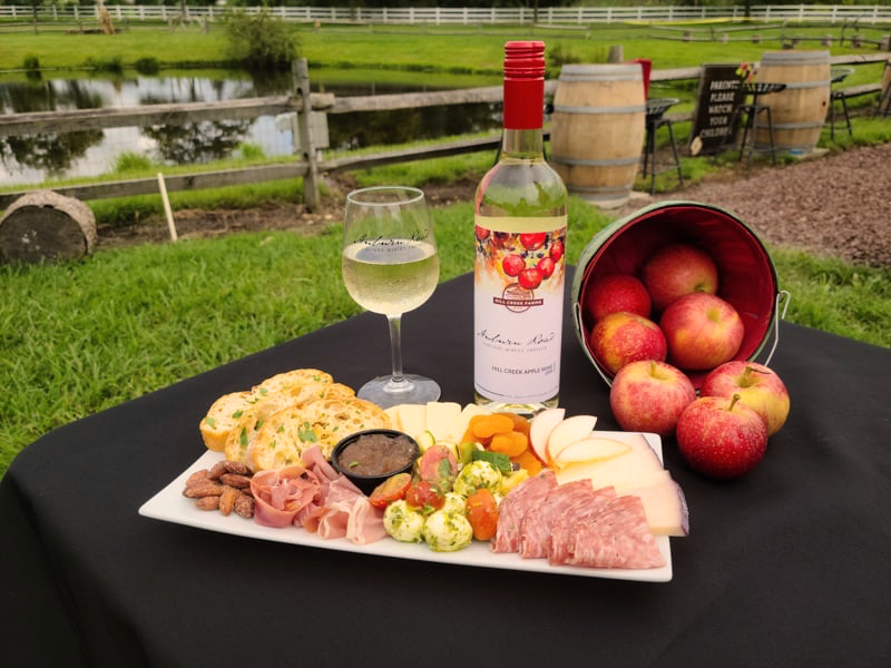
<instances>
[{"instance_id":1,"label":"stemmed wine glass half filled with white wine","mask_svg":"<svg viewBox=\"0 0 891 668\"><path fill-rule=\"evenodd\" d=\"M372 379L356 395L390 407L435 401L435 381L402 372L402 314L430 298L439 255L424 194L409 186L361 188L346 196L342 271L346 292L363 308L386 316L392 373Z\"/></svg>"}]
</instances>

